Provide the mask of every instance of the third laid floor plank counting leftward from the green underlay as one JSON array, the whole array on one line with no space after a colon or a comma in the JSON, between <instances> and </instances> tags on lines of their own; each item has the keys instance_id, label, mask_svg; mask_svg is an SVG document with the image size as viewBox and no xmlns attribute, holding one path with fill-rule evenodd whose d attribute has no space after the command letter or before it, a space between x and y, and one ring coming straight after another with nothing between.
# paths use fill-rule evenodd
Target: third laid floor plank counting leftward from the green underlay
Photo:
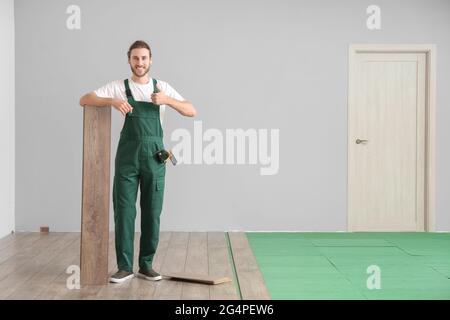
<instances>
[{"instance_id":1,"label":"third laid floor plank counting leftward from the green underlay","mask_svg":"<svg viewBox=\"0 0 450 320\"><path fill-rule=\"evenodd\" d=\"M208 276L208 238L206 232L189 233L184 273ZM182 300L209 300L209 285L182 283Z\"/></svg>"}]
</instances>

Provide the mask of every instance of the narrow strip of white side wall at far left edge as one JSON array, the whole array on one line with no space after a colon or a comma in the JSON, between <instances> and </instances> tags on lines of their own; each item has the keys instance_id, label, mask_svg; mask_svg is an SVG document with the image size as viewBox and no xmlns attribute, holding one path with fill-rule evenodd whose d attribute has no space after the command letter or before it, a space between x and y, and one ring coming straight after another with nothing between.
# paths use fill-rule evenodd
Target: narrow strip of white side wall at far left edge
<instances>
[{"instance_id":1,"label":"narrow strip of white side wall at far left edge","mask_svg":"<svg viewBox=\"0 0 450 320\"><path fill-rule=\"evenodd\" d=\"M14 1L0 1L0 238L14 230Z\"/></svg>"}]
</instances>

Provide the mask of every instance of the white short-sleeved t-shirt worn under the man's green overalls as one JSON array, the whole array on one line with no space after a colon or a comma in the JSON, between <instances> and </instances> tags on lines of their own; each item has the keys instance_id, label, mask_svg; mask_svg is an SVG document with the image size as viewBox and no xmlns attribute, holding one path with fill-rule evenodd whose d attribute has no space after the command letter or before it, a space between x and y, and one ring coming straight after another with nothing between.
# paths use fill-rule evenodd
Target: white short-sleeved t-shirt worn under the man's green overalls
<instances>
[{"instance_id":1,"label":"white short-sleeved t-shirt worn under the man's green overalls","mask_svg":"<svg viewBox=\"0 0 450 320\"><path fill-rule=\"evenodd\" d=\"M128 83L129 83L131 94L133 95L134 100L152 102L151 95L154 91L152 78L150 78L150 81L146 84L136 83L131 79L128 79ZM158 80L158 84L161 86L162 91L164 91L164 93L168 97L177 99L179 101L185 100L167 82ZM121 100L127 100L127 96L125 94L125 84L123 83L123 80L111 81L111 82L105 84L103 87L98 88L94 92L100 98L116 98L116 99L121 99ZM160 121L161 121L161 126L163 123L165 111L166 111L166 105L163 104L159 108L159 117L160 117Z\"/></svg>"}]
</instances>

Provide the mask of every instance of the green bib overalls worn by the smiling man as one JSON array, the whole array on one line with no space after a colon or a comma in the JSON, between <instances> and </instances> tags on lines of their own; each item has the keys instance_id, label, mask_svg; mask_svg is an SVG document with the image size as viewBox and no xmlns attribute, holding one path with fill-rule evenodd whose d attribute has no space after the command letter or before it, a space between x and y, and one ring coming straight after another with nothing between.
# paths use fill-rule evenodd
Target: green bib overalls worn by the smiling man
<instances>
[{"instance_id":1,"label":"green bib overalls worn by the smiling man","mask_svg":"<svg viewBox=\"0 0 450 320\"><path fill-rule=\"evenodd\" d=\"M153 79L154 92L156 80ZM134 224L136 198L141 190L141 238L139 268L150 269L159 241L159 218L164 198L166 167L154 157L164 149L159 106L151 102L135 101L125 80L128 103L133 107L127 113L120 132L115 160L113 186L116 256L119 270L133 272Z\"/></svg>"}]
</instances>

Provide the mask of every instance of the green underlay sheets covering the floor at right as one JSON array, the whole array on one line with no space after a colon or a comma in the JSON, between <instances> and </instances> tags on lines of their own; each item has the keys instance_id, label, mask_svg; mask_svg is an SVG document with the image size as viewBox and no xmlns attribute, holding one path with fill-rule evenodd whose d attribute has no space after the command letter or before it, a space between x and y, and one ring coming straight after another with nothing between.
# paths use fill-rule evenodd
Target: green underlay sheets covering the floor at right
<instances>
[{"instance_id":1,"label":"green underlay sheets covering the floor at right","mask_svg":"<svg viewBox=\"0 0 450 320\"><path fill-rule=\"evenodd\" d=\"M450 299L450 233L247 237L272 299ZM367 284L373 266L379 289Z\"/></svg>"}]
</instances>

